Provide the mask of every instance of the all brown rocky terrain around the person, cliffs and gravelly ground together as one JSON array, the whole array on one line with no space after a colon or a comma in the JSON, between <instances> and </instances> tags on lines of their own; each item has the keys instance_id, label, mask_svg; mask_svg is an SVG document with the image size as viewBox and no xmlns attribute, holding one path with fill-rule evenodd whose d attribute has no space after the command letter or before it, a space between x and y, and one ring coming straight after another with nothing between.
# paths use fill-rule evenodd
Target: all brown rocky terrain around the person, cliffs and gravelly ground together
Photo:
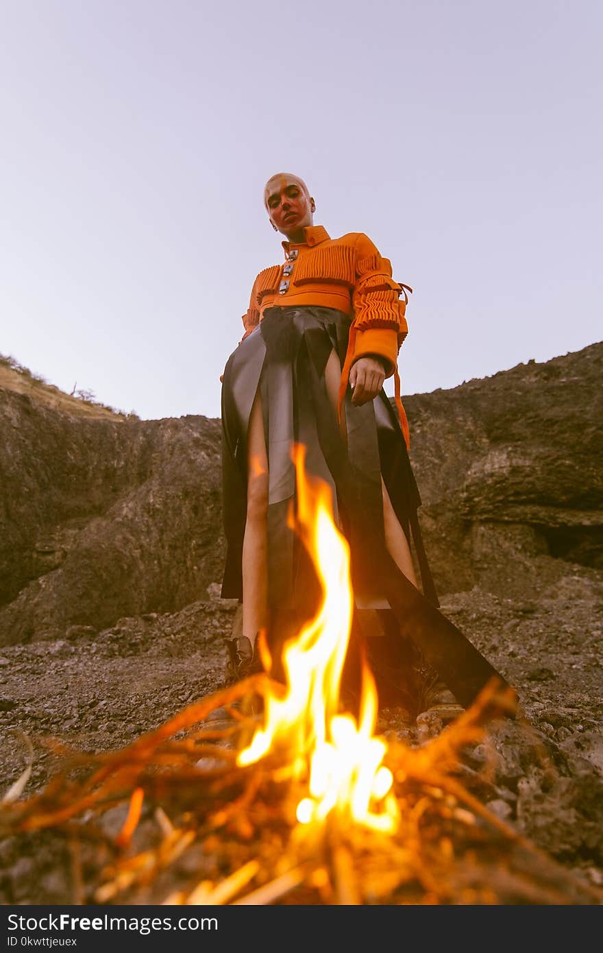
<instances>
[{"instance_id":1,"label":"all brown rocky terrain around the person, cliffs and gravelly ground together","mask_svg":"<svg viewBox=\"0 0 603 953\"><path fill-rule=\"evenodd\" d=\"M492 726L466 777L495 751L481 800L584 890L603 889L602 361L598 343L404 398L443 611L528 721ZM51 737L120 748L214 691L236 604L219 598L219 420L138 420L0 370L1 797L25 736L27 795ZM413 746L441 728L380 713ZM0 902L72 900L53 844L0 842Z\"/></svg>"}]
</instances>

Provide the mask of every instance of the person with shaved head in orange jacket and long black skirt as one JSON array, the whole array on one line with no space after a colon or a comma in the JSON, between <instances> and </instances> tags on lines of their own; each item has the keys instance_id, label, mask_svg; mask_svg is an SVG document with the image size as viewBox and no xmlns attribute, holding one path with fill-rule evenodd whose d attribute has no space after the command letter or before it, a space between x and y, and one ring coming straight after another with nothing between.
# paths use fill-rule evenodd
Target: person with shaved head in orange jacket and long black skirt
<instances>
[{"instance_id":1,"label":"person with shaved head in orange jacket and long black skirt","mask_svg":"<svg viewBox=\"0 0 603 953\"><path fill-rule=\"evenodd\" d=\"M390 261L365 233L332 238L314 225L316 203L298 176L272 175L264 205L271 227L285 236L284 261L257 275L245 333L222 375L222 597L241 603L227 678L261 669L260 630L278 658L317 608L312 565L287 522L296 496L291 445L299 442L308 472L331 487L333 517L350 542L352 636L367 647L382 703L423 710L454 701L429 659L440 659L446 639L440 631L433 648L435 629L460 637L470 667L476 662L467 691L459 681L469 697L493 670L437 612L421 537L397 369L412 289L394 280ZM383 389L391 376L395 410ZM444 656L449 649L452 658L452 646Z\"/></svg>"}]
</instances>

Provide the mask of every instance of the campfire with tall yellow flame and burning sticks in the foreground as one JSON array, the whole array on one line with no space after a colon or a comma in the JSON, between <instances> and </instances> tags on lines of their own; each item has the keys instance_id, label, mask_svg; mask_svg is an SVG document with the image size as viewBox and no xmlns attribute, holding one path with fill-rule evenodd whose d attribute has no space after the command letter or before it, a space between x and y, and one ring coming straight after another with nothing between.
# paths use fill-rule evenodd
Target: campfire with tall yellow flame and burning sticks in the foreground
<instances>
[{"instance_id":1,"label":"campfire with tall yellow flame and burning sticks in the foreground","mask_svg":"<svg viewBox=\"0 0 603 953\"><path fill-rule=\"evenodd\" d=\"M190 705L118 751L83 755L55 743L61 770L28 800L25 776L12 786L0 835L61 838L72 902L567 902L567 875L472 793L488 779L468 783L462 770L461 753L482 740L492 703L504 708L497 686L415 748L375 734L366 664L358 712L344 710L349 547L329 487L305 473L302 446L293 459L290 525L322 597L284 646L284 683L271 678L262 634L267 674ZM227 717L212 718L218 710ZM110 834L103 821L117 807L125 817Z\"/></svg>"}]
</instances>

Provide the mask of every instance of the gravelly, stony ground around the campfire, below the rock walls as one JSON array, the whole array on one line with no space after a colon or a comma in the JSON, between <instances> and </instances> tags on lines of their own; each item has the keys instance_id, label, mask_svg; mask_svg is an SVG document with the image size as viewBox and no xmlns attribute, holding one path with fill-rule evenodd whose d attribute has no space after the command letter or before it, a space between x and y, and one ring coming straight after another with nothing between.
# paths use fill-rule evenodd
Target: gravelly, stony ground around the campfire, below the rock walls
<instances>
[{"instance_id":1,"label":"gravelly, stony ground around the campfire, below the rock walls","mask_svg":"<svg viewBox=\"0 0 603 953\"><path fill-rule=\"evenodd\" d=\"M34 744L27 792L56 765L47 740L78 750L117 748L215 690L223 636L236 603L209 598L163 615L121 618L100 633L8 646L0 655L0 791L22 772ZM465 752L471 774L492 750L495 775L482 801L511 821L577 882L603 887L603 574L579 565L538 602L477 588L447 596L443 611L519 691L530 727L492 725L487 743ZM413 746L441 725L411 724L386 709L379 730ZM108 817L108 823L121 823ZM116 826L116 830L118 826ZM68 866L45 835L0 843L0 902L72 902ZM569 896L569 895L568 895ZM603 894L601 895L603 898ZM588 894L567 902L593 902Z\"/></svg>"}]
</instances>

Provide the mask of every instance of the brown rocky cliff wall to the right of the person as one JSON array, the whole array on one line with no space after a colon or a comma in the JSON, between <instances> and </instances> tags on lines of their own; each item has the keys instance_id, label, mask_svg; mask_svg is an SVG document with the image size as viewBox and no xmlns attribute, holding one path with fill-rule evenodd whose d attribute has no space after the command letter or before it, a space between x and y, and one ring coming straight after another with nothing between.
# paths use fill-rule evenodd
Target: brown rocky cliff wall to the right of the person
<instances>
[{"instance_id":1,"label":"brown rocky cliff wall to the right of the person","mask_svg":"<svg viewBox=\"0 0 603 953\"><path fill-rule=\"evenodd\" d=\"M539 592L603 568L603 344L405 398L440 592Z\"/></svg>"}]
</instances>

